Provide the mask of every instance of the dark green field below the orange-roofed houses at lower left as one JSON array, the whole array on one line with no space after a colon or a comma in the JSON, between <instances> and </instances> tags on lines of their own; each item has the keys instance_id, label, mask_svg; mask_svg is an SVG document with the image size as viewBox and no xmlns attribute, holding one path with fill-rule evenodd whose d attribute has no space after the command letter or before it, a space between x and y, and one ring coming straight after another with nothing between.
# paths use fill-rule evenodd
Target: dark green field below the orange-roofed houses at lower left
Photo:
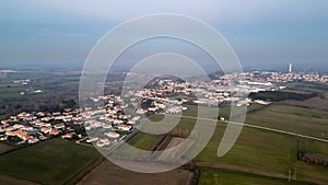
<instances>
[{"instance_id":1,"label":"dark green field below the orange-roofed houses at lower left","mask_svg":"<svg viewBox=\"0 0 328 185\"><path fill-rule=\"evenodd\" d=\"M51 139L0 157L0 173L40 184L74 184L102 161L91 147Z\"/></svg>"}]
</instances>

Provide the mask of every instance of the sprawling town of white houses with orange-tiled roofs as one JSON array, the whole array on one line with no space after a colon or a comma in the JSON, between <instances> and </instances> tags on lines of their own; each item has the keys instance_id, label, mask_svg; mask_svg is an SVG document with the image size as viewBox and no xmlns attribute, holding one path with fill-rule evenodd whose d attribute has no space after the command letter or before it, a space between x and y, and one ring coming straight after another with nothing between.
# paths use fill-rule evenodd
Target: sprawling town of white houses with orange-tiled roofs
<instances>
[{"instance_id":1,"label":"sprawling town of white houses with orange-tiled roofs","mask_svg":"<svg viewBox=\"0 0 328 185\"><path fill-rule=\"evenodd\" d=\"M126 73L126 76L138 76ZM230 86L230 79L241 79ZM188 104L218 106L233 103L235 106L250 103L270 104L263 100L251 100L249 93L283 90L291 81L328 82L328 76L317 73L281 73L254 71L224 74L209 82L185 82L172 79L155 79L152 84L125 96L104 95L90 97L95 105L84 109L66 108L63 112L22 112L1 120L0 140L14 144L33 144L54 137L75 139L77 142L95 143L108 148L126 138L142 120L143 115L179 114ZM30 83L30 80L15 81ZM235 93L238 92L238 93ZM241 93L242 92L242 93ZM178 96L178 97L176 97ZM127 111L129 109L129 111ZM226 120L223 118L222 120ZM97 137L87 137L87 132ZM95 135L92 135L95 136Z\"/></svg>"}]
</instances>

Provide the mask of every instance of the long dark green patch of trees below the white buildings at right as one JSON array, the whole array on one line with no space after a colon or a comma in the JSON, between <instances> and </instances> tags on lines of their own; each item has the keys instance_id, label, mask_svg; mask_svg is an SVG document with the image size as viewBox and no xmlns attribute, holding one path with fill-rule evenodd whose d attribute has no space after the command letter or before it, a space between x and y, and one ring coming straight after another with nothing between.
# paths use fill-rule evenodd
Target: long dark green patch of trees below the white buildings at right
<instances>
[{"instance_id":1,"label":"long dark green patch of trees below the white buildings at right","mask_svg":"<svg viewBox=\"0 0 328 185\"><path fill-rule=\"evenodd\" d=\"M282 91L261 91L258 93L250 93L248 97L253 100L262 100L270 102L281 102L285 100L304 101L311 97L317 96L318 93L294 93L294 92L282 92Z\"/></svg>"}]
</instances>

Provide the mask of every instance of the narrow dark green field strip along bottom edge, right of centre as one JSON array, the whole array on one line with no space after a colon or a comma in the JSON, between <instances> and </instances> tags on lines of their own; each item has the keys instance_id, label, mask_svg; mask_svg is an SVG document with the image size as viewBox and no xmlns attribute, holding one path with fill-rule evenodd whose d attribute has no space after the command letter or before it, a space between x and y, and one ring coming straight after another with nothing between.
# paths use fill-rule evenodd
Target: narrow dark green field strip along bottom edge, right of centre
<instances>
[{"instance_id":1,"label":"narrow dark green field strip along bottom edge, right of centre","mask_svg":"<svg viewBox=\"0 0 328 185\"><path fill-rule=\"evenodd\" d=\"M286 180L270 178L258 175L250 175L239 172L216 170L216 169L200 169L199 185L291 185ZM297 183L298 185L307 185L306 183Z\"/></svg>"}]
</instances>

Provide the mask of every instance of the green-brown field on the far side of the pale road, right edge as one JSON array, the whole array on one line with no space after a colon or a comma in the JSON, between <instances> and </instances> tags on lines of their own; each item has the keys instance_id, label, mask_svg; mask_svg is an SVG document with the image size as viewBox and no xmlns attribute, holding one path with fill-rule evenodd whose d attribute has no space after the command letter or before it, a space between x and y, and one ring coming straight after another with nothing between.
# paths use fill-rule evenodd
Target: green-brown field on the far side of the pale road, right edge
<instances>
[{"instance_id":1,"label":"green-brown field on the far side of the pale road, right edge","mask_svg":"<svg viewBox=\"0 0 328 185\"><path fill-rule=\"evenodd\" d=\"M324 111L273 104L248 114L246 123L328 139L328 112Z\"/></svg>"}]
</instances>

